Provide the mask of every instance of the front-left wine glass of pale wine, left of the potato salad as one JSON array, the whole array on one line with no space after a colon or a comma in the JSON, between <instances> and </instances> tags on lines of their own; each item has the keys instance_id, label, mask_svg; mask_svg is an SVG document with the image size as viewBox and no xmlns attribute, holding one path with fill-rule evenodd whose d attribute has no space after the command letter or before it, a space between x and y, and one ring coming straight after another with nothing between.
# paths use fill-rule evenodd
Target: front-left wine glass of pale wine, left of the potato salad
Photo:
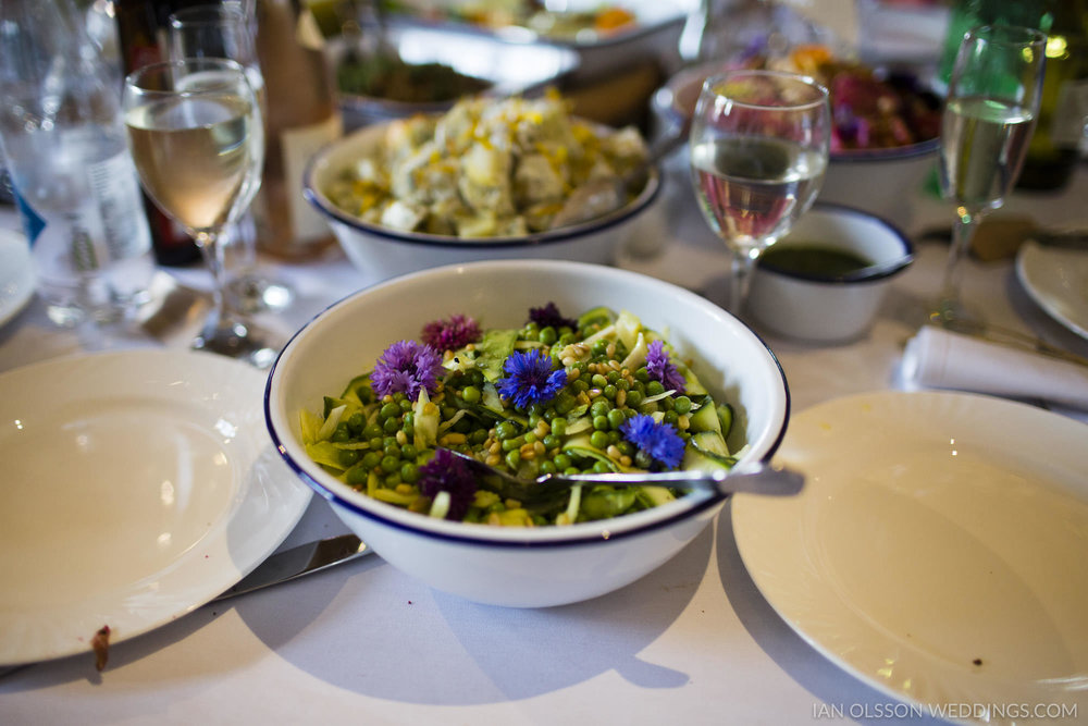
<instances>
[{"instance_id":1,"label":"front-left wine glass of pale wine, left of the potato salad","mask_svg":"<svg viewBox=\"0 0 1088 726\"><path fill-rule=\"evenodd\" d=\"M260 106L245 71L223 58L147 65L125 78L122 107L140 184L196 239L212 275L213 309L193 346L271 365L279 345L223 295L219 243L249 208L264 161Z\"/></svg>"}]
</instances>

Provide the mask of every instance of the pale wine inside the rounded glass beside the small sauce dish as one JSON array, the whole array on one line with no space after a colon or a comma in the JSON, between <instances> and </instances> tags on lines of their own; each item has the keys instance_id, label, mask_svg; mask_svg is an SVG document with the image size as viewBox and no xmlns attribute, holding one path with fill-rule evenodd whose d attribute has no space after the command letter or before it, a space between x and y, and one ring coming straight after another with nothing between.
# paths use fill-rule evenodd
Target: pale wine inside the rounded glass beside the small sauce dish
<instances>
[{"instance_id":1,"label":"pale wine inside the rounded glass beside the small sauce dish","mask_svg":"<svg viewBox=\"0 0 1088 726\"><path fill-rule=\"evenodd\" d=\"M691 162L712 229L744 249L789 231L819 190L827 157L792 141L737 136L693 145Z\"/></svg>"}]
</instances>

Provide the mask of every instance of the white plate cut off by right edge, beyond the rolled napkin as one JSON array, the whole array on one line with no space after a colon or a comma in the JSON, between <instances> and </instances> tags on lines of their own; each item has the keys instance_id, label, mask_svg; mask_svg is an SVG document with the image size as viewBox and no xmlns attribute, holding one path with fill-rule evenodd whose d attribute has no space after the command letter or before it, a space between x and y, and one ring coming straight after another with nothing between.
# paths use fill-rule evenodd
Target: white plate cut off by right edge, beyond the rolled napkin
<instances>
[{"instance_id":1,"label":"white plate cut off by right edge, beyond the rolled napkin","mask_svg":"<svg viewBox=\"0 0 1088 726\"><path fill-rule=\"evenodd\" d=\"M1016 254L1016 276L1051 318L1088 337L1088 251L1027 242Z\"/></svg>"}]
</instances>

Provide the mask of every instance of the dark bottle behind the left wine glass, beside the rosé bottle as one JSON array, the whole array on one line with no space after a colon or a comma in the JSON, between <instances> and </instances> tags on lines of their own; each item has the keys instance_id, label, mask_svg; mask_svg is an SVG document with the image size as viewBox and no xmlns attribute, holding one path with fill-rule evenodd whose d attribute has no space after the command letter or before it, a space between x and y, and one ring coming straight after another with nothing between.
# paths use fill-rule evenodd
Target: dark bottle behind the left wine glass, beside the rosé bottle
<instances>
[{"instance_id":1,"label":"dark bottle behind the left wine glass, beside the ros\u00e9 bottle","mask_svg":"<svg viewBox=\"0 0 1088 726\"><path fill-rule=\"evenodd\" d=\"M145 0L115 0L118 41L125 74L164 59L160 29L174 10L172 3ZM159 264L187 266L200 259L200 249L185 230L160 210L143 193L144 209L151 229L151 247Z\"/></svg>"}]
</instances>

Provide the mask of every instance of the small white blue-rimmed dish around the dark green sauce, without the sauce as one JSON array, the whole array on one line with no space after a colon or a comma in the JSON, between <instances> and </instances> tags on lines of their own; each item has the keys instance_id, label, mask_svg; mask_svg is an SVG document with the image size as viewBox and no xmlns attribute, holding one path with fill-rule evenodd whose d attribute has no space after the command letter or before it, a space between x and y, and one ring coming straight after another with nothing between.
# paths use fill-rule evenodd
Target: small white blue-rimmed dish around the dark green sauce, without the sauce
<instances>
[{"instance_id":1,"label":"small white blue-rimmed dish around the dark green sauce, without the sauce","mask_svg":"<svg viewBox=\"0 0 1088 726\"><path fill-rule=\"evenodd\" d=\"M914 245L900 230L836 205L814 206L778 244L845 250L873 263L849 278L756 266L747 302L752 315L779 335L821 343L864 335L891 280L914 260Z\"/></svg>"}]
</instances>

